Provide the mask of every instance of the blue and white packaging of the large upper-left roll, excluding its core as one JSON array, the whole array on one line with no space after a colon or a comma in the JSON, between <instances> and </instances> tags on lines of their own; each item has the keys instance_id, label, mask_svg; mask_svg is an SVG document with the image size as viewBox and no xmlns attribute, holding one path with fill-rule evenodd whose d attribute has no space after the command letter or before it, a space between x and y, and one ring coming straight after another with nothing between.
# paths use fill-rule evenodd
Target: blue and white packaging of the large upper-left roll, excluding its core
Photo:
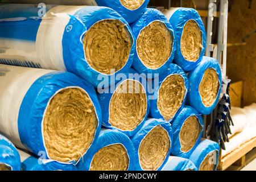
<instances>
[{"instance_id":1,"label":"blue and white packaging of the large upper-left roll, excluding its core","mask_svg":"<svg viewBox=\"0 0 256 182\"><path fill-rule=\"evenodd\" d=\"M108 73L100 71L88 61L84 48L84 39L90 28L103 20L118 20L130 39L127 60L118 70ZM101 77L109 78L131 67L135 44L133 39L129 24L109 7L0 6L0 64L68 71L97 87ZM106 51L104 46L102 50ZM101 64L104 61L100 63L103 67Z\"/></svg>"}]
</instances>

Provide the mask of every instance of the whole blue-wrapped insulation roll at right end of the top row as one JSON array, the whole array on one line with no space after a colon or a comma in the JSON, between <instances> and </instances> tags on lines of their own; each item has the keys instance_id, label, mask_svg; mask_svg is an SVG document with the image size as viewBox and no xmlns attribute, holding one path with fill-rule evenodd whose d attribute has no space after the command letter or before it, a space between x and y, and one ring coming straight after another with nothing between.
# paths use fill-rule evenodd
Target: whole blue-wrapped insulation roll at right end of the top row
<instances>
[{"instance_id":1,"label":"whole blue-wrapped insulation roll at right end of the top row","mask_svg":"<svg viewBox=\"0 0 256 182\"><path fill-rule=\"evenodd\" d=\"M176 33L174 61L185 72L191 71L203 59L206 48L204 23L199 13L190 8L172 8L164 13Z\"/></svg>"}]
</instances>

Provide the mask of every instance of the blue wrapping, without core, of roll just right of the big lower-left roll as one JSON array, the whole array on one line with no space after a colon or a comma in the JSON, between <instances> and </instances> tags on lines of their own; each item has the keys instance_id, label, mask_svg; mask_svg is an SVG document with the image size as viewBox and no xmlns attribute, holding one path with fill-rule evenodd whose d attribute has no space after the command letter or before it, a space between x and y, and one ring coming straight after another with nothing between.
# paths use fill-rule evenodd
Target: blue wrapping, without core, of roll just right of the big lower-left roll
<instances>
[{"instance_id":1,"label":"blue wrapping, without core, of roll just right of the big lower-left roll","mask_svg":"<svg viewBox=\"0 0 256 182\"><path fill-rule=\"evenodd\" d=\"M128 72L126 72L123 76L126 78L121 78L121 81L117 82L117 84L110 86L109 88L106 88L105 90L108 90L108 92L98 94L98 100L100 102L101 110L102 110L102 126L104 126L106 129L116 129L118 131L121 131L122 133L125 133L128 137L132 137L139 129L141 129L143 123L146 121L146 118L148 116L148 113L150 111L150 102L148 100L148 93L147 89L144 88L146 86L145 83L139 78L139 77L133 77L129 78L130 74L138 74L134 69L129 69ZM136 82L140 82L142 84L143 89L145 90L145 93L147 94L147 109L146 109L146 115L144 115L144 118L142 121L139 123L139 125L134 129L134 130L121 130L118 129L117 127L112 126L112 124L109 122L109 113L110 113L110 101L113 98L113 94L115 93L118 85L122 84L122 82L127 81L127 80L134 80ZM112 90L114 92L112 93Z\"/></svg>"}]
</instances>

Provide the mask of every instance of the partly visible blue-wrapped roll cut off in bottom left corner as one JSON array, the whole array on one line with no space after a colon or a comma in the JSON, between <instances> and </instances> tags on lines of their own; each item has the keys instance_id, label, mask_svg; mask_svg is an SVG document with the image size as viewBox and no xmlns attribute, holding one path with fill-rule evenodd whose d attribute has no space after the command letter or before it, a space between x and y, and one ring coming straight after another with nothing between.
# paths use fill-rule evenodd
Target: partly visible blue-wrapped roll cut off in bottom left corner
<instances>
[{"instance_id":1,"label":"partly visible blue-wrapped roll cut off in bottom left corner","mask_svg":"<svg viewBox=\"0 0 256 182\"><path fill-rule=\"evenodd\" d=\"M18 151L9 139L0 134L0 171L20 171Z\"/></svg>"}]
</instances>

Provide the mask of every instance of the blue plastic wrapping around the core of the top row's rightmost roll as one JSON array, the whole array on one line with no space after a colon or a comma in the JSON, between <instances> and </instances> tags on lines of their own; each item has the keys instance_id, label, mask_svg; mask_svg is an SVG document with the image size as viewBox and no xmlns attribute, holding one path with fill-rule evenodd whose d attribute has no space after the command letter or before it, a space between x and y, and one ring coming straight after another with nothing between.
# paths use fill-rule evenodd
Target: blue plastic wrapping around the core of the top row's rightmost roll
<instances>
[{"instance_id":1,"label":"blue plastic wrapping around the core of the top row's rightmost roll","mask_svg":"<svg viewBox=\"0 0 256 182\"><path fill-rule=\"evenodd\" d=\"M196 67L197 64L203 59L205 48L206 48L206 33L204 23L199 15L199 13L195 9L190 8L178 8L174 9L173 14L171 14L170 23L172 27L174 27L174 31L176 33L176 54L174 58L174 62L178 64L185 72L191 71ZM170 16L166 14L166 16ZM202 36L202 48L199 58L193 61L185 60L184 56L181 53L181 36L183 35L183 28L188 20L195 20L197 25L201 30Z\"/></svg>"}]
</instances>

